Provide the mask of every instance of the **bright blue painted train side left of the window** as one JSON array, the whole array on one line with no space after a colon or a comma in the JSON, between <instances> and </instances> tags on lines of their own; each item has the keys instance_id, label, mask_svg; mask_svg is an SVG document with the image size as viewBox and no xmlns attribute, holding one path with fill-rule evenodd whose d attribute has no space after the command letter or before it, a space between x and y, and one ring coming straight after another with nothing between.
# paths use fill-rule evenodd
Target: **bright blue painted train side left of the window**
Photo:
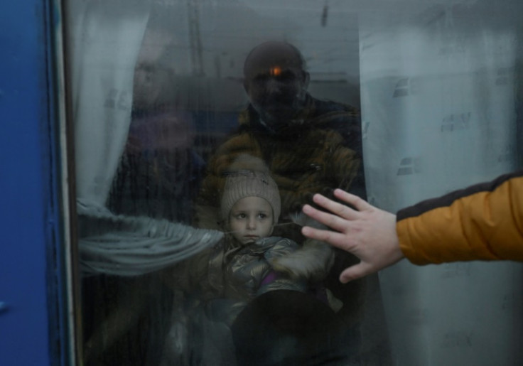
<instances>
[{"instance_id":1,"label":"bright blue painted train side left of the window","mask_svg":"<svg viewBox=\"0 0 523 366\"><path fill-rule=\"evenodd\" d=\"M54 53L59 16L58 1L0 4L2 365L74 363Z\"/></svg>"}]
</instances>

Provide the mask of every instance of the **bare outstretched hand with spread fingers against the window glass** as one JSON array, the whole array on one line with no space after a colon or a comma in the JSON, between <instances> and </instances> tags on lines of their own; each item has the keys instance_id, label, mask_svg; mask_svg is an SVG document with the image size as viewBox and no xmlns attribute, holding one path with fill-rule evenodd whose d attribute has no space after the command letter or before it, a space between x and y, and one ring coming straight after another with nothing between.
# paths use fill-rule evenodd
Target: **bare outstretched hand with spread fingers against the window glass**
<instances>
[{"instance_id":1,"label":"bare outstretched hand with spread fingers against the window glass","mask_svg":"<svg viewBox=\"0 0 523 366\"><path fill-rule=\"evenodd\" d=\"M346 268L340 274L341 282L359 279L404 258L396 233L396 215L379 210L344 190L337 189L334 195L357 210L316 194L314 203L332 213L316 210L311 205L303 206L303 212L332 230L306 226L301 232L306 237L328 242L360 259L359 264Z\"/></svg>"}]
</instances>

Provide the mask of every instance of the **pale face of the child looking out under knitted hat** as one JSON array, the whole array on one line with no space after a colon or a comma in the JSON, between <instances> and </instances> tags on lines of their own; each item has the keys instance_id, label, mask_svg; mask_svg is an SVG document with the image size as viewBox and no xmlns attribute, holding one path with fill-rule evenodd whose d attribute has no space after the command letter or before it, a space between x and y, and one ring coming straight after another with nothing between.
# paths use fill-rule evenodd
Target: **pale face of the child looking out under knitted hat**
<instances>
[{"instance_id":1,"label":"pale face of the child looking out under knitted hat","mask_svg":"<svg viewBox=\"0 0 523 366\"><path fill-rule=\"evenodd\" d=\"M272 233L272 207L263 198L245 197L234 203L229 213L232 236L242 244L256 242Z\"/></svg>"}]
</instances>

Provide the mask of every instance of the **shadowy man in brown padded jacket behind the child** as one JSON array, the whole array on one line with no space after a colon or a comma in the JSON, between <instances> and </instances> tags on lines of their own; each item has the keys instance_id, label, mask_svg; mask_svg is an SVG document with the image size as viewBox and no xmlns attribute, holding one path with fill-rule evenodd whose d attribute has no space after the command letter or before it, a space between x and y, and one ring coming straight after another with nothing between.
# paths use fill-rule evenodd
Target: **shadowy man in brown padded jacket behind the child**
<instances>
[{"instance_id":1,"label":"shadowy man in brown padded jacket behind the child","mask_svg":"<svg viewBox=\"0 0 523 366\"><path fill-rule=\"evenodd\" d=\"M210 159L197 219L207 219L202 207L219 207L223 173L240 154L268 163L282 195L284 222L311 203L314 193L326 193L325 187L343 186L365 199L359 111L309 95L305 67L300 51L289 43L262 43L247 55L249 105L239 115L236 133ZM284 229L303 239L299 231Z\"/></svg>"}]
</instances>

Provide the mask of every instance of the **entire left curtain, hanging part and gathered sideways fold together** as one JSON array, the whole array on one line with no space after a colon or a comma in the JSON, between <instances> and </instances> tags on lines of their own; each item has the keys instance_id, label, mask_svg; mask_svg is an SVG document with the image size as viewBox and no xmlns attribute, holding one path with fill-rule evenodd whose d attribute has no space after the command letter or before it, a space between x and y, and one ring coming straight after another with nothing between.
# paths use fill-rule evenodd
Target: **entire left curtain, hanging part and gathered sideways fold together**
<instances>
[{"instance_id":1,"label":"entire left curtain, hanging part and gathered sideways fold together","mask_svg":"<svg viewBox=\"0 0 523 366\"><path fill-rule=\"evenodd\" d=\"M136 58L149 0L68 1L80 264L84 276L156 271L215 244L222 232L112 215L105 203L131 122Z\"/></svg>"}]
</instances>

